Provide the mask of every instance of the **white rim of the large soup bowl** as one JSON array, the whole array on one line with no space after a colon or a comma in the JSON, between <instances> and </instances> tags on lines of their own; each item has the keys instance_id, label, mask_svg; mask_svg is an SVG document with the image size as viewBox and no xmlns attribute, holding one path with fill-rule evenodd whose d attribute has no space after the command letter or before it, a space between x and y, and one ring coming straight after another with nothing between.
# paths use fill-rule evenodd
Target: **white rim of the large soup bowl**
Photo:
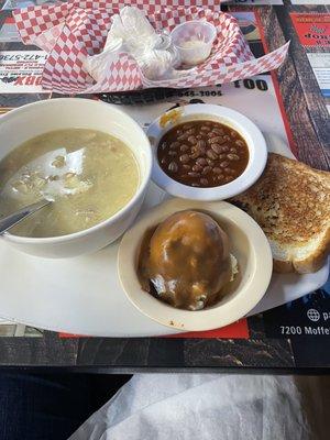
<instances>
[{"instance_id":1,"label":"white rim of the large soup bowl","mask_svg":"<svg viewBox=\"0 0 330 440\"><path fill-rule=\"evenodd\" d=\"M81 101L81 106L84 105L84 102L88 102L88 105L92 105L96 108L97 107L107 107L108 109L111 109L111 111L123 116L125 119L129 119L130 123L132 123L132 125L135 125L136 129L141 130L142 136L145 138L146 143L148 143L148 139L147 139L146 134L144 133L143 129L139 125L139 123L136 121L134 121L133 118L131 118L124 111L118 109L114 106L110 106L110 105L108 105L106 102L94 101L92 99L85 99L85 98L56 98L56 99L48 99L48 100L44 100L44 101L37 101L37 102L28 103L25 106L19 107L18 109L13 109L13 110L9 111L8 113L3 114L2 117L0 117L0 128L1 128L1 124L4 123L7 120L12 118L13 116L16 116L16 114L20 114L20 113L24 113L26 111L26 109L29 111L29 108L31 108L31 107L52 106L54 103L58 105L58 102L63 102L64 105L68 105L69 101L76 100L76 99L79 99L79 102ZM97 111L97 109L96 109L96 111ZM152 163L152 153L151 153L151 151L146 151L146 160L147 160L148 164ZM116 221L121 216L124 216L124 213L128 212L133 207L135 200L140 197L141 193L143 193L145 184L150 179L151 167L147 166L147 169L148 169L148 172L145 174L143 180L140 183L140 186L139 186L136 193L131 198L131 200L128 202L128 205L125 205L123 208L121 208L119 211L117 211L110 218L103 220L100 223L95 224L91 228L84 229L82 231L74 232L72 234L59 235L59 237L46 237L46 238L20 237L20 235L13 235L13 234L11 234L9 232L6 232L4 235L10 241L15 242L15 243L45 244L45 243L58 243L58 242L64 242L64 241L67 241L67 240L80 238L80 237L84 237L84 235L86 235L86 234L88 234L88 233L90 233L92 231L101 229L102 227L105 227L109 222Z\"/></svg>"}]
</instances>

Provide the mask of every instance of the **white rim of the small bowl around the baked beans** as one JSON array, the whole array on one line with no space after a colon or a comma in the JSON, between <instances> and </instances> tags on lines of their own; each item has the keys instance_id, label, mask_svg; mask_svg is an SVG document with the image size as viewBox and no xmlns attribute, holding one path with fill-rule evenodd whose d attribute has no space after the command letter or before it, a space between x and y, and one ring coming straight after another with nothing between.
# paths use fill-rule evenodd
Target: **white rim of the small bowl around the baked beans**
<instances>
[{"instance_id":1,"label":"white rim of the small bowl around the baked beans","mask_svg":"<svg viewBox=\"0 0 330 440\"><path fill-rule=\"evenodd\" d=\"M148 127L146 133L153 148L154 161L152 179L156 185L173 196L195 200L219 200L243 193L257 180L267 162L267 146L262 132L250 119L235 110L216 105L188 105L169 110L167 113L176 110L182 112L178 120L175 120L174 123L167 123L165 127L161 127L160 122L162 117L160 117ZM174 180L161 168L157 160L157 146L161 138L173 127L185 122L186 119L194 119L191 118L194 116L198 117L198 119L202 119L202 117L211 120L219 119L220 122L233 127L233 129L239 131L246 140L250 153L248 166L238 178L229 184L210 188L190 187Z\"/></svg>"}]
</instances>

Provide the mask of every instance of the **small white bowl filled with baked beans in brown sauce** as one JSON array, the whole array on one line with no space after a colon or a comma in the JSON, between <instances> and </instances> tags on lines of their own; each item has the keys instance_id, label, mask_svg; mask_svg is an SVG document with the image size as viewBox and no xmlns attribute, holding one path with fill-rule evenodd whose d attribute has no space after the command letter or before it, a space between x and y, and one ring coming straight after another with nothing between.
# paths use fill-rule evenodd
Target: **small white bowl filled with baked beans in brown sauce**
<instances>
[{"instance_id":1,"label":"small white bowl filled with baked beans in brown sauce","mask_svg":"<svg viewBox=\"0 0 330 440\"><path fill-rule=\"evenodd\" d=\"M190 105L162 114L147 130L152 179L168 194L223 200L246 190L263 173L267 146L260 129L238 111Z\"/></svg>"}]
</instances>

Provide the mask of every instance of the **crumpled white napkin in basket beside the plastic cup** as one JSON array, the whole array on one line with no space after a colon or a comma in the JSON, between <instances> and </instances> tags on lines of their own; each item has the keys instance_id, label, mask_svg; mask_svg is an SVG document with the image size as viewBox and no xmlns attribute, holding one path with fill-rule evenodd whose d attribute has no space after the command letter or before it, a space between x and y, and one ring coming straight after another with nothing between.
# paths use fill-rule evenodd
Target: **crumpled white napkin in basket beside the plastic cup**
<instances>
[{"instance_id":1,"label":"crumpled white napkin in basket beside the plastic cup","mask_svg":"<svg viewBox=\"0 0 330 440\"><path fill-rule=\"evenodd\" d=\"M179 55L168 35L160 35L145 18L143 11L124 7L113 15L103 52L87 56L84 67L96 80L101 80L103 68L110 65L118 52L131 54L147 79L168 79L177 75Z\"/></svg>"}]
</instances>

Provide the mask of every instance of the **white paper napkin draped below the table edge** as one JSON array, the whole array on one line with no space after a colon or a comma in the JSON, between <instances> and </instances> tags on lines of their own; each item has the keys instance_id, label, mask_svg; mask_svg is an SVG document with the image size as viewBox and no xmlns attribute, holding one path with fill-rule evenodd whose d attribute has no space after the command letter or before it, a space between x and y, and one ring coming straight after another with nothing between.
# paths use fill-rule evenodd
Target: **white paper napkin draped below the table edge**
<instances>
[{"instance_id":1,"label":"white paper napkin draped below the table edge","mask_svg":"<svg viewBox=\"0 0 330 440\"><path fill-rule=\"evenodd\" d=\"M68 440L307 440L290 376L139 374Z\"/></svg>"}]
</instances>

